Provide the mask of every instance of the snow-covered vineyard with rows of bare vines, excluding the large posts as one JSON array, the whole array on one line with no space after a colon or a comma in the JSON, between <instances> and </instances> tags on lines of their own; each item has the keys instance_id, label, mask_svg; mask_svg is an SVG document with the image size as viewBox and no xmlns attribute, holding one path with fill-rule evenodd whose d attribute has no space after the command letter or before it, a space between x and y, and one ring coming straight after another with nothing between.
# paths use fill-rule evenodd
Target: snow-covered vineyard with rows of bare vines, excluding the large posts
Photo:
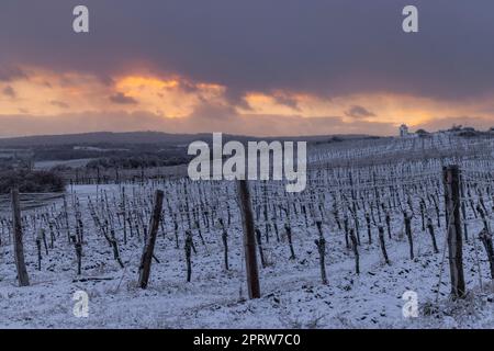
<instances>
[{"instance_id":1,"label":"snow-covered vineyard with rows of bare vines, excluding the large posts","mask_svg":"<svg viewBox=\"0 0 494 351\"><path fill-rule=\"evenodd\" d=\"M1 196L0 326L493 328L493 138L440 134L337 143L310 149L302 193L287 193L282 182L249 182L255 299L235 182L149 179L21 194L29 275L22 287L10 196ZM460 169L453 211L445 193L450 165ZM157 190L161 218L142 288ZM467 291L456 299L447 240L453 213ZM87 317L75 314L79 291L89 297ZM406 318L409 293L418 316Z\"/></svg>"}]
</instances>

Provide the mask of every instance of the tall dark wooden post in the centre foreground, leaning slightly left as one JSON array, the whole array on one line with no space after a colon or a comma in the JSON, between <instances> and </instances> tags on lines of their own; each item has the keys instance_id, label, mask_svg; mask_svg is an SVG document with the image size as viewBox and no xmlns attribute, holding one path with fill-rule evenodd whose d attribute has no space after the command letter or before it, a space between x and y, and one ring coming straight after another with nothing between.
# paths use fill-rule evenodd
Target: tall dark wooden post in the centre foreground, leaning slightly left
<instances>
[{"instance_id":1,"label":"tall dark wooden post in the centre foreground, leaning slightly left","mask_svg":"<svg viewBox=\"0 0 494 351\"><path fill-rule=\"evenodd\" d=\"M249 298L259 298L260 287L256 257L256 231L254 225L252 207L250 204L249 186L246 180L238 181L237 191L238 204L240 206L242 214L242 227L244 230L244 252Z\"/></svg>"}]
</instances>

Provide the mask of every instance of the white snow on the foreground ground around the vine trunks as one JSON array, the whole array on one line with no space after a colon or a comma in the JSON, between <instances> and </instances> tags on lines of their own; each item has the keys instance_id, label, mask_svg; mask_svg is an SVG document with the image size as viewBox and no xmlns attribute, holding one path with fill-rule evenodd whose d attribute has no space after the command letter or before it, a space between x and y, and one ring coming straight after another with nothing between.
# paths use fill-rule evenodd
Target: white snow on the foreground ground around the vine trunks
<instances>
[{"instance_id":1,"label":"white snow on the foreground ground around the vine trunks","mask_svg":"<svg viewBox=\"0 0 494 351\"><path fill-rule=\"evenodd\" d=\"M94 185L75 186L80 199L94 196ZM109 192L115 190L105 188ZM58 203L58 205L60 205ZM87 211L85 211L87 213ZM440 253L433 253L430 237L414 219L416 259L408 257L408 244L402 220L395 216L393 238L386 237L391 265L382 259L377 230L367 244L362 230L361 273L355 273L351 251L345 248L344 235L333 222L324 224L327 240L328 284L319 279L318 252L314 244L315 226L293 225L295 260L290 260L287 238L277 242L272 236L265 244L270 265L260 268L262 297L246 298L245 269L242 256L242 230L237 222L229 234L231 269L223 265L223 246L218 229L204 233L206 247L195 236L198 254L192 256L192 282L186 282L183 240L175 247L173 234L158 233L156 257L149 287L136 287L143 242L136 237L121 245L125 269L113 259L105 239L96 233L91 218L85 220L82 275L76 274L74 246L64 234L55 248L43 258L37 271L33 234L25 235L25 257L31 286L18 287L12 245L2 237L0 247L0 327L2 328L493 328L494 290L489 287L489 263L479 241L475 256L473 240L464 247L465 281L471 292L465 302L451 303L449 267L444 257L445 234L437 229ZM280 228L282 226L280 225ZM479 227L472 226L471 233ZM120 240L121 241L121 238ZM422 307L435 303L440 267L445 260L438 305L441 313L404 318L402 295L415 291ZM480 291L478 264L482 273ZM260 264L259 264L260 265ZM104 278L78 281L80 278ZM89 295L89 317L74 315L76 291ZM433 307L436 306L433 304ZM427 308L430 310L431 308Z\"/></svg>"}]
</instances>

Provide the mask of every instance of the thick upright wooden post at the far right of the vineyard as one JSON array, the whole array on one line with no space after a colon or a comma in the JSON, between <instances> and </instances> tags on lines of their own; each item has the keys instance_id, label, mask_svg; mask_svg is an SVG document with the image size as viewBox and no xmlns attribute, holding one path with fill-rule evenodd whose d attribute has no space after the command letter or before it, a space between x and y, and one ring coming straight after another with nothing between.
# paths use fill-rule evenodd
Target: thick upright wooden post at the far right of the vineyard
<instances>
[{"instance_id":1,"label":"thick upright wooden post at the far right of the vineyard","mask_svg":"<svg viewBox=\"0 0 494 351\"><path fill-rule=\"evenodd\" d=\"M445 167L442 169L442 176L446 201L446 227L448 228L451 294L454 298L464 298L463 244L460 215L460 170L458 166Z\"/></svg>"}]
</instances>

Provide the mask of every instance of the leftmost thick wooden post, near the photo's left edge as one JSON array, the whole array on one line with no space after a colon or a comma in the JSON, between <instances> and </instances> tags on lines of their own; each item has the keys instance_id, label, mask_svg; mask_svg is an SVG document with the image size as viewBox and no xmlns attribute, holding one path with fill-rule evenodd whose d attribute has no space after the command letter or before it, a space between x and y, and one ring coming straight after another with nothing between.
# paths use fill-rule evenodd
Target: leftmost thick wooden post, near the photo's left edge
<instances>
[{"instance_id":1,"label":"leftmost thick wooden post, near the photo's left edge","mask_svg":"<svg viewBox=\"0 0 494 351\"><path fill-rule=\"evenodd\" d=\"M29 286L30 278L24 262L24 246L22 244L21 205L19 203L19 190L12 189L12 229L14 237L15 268L20 286Z\"/></svg>"}]
</instances>

